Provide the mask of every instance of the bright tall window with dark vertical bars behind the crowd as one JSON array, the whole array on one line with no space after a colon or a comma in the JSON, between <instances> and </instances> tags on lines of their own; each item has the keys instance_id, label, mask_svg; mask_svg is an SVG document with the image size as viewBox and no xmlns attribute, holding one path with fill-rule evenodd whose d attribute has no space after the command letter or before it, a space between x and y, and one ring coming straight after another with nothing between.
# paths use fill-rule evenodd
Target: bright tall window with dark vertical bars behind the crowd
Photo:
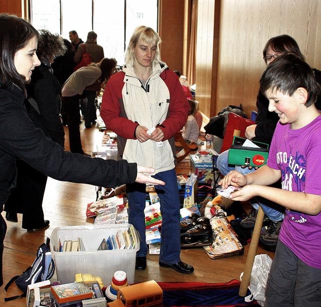
<instances>
[{"instance_id":1,"label":"bright tall window with dark vertical bars behind the crowd","mask_svg":"<svg viewBox=\"0 0 321 307\"><path fill-rule=\"evenodd\" d=\"M97 43L106 58L123 65L125 46L137 26L157 31L157 0L30 0L32 24L69 39L75 30L84 42L89 31L97 33Z\"/></svg>"}]
</instances>

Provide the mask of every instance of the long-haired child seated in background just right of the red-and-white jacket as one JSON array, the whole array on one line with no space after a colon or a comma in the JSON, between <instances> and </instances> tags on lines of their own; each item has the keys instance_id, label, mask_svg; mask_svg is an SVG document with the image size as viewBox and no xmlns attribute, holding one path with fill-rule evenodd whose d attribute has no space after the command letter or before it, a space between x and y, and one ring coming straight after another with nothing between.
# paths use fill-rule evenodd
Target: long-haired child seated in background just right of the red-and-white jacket
<instances>
[{"instance_id":1,"label":"long-haired child seated in background just right of the red-and-white jacket","mask_svg":"<svg viewBox=\"0 0 321 307\"><path fill-rule=\"evenodd\" d=\"M199 139L200 126L195 118L196 103L191 99L188 99L188 101L191 109L183 128L183 138L185 139L186 143L201 145L203 144L203 141Z\"/></svg>"}]
</instances>

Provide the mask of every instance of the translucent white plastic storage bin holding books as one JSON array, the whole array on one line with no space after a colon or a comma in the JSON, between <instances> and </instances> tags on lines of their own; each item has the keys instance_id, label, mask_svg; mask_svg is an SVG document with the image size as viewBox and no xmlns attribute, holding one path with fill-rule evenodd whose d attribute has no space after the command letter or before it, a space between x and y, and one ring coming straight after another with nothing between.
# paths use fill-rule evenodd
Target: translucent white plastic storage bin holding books
<instances>
[{"instance_id":1,"label":"translucent white plastic storage bin holding books","mask_svg":"<svg viewBox=\"0 0 321 307\"><path fill-rule=\"evenodd\" d=\"M102 277L104 286L110 284L113 274L123 270L127 274L128 283L134 283L136 252L135 248L117 250L97 250L105 238L116 234L117 230L127 230L130 224L64 226L54 228L50 237L50 249L56 264L57 279L61 283L75 281L76 273L91 273ZM138 237L137 231L136 235ZM58 248L64 240L83 241L85 251L59 252Z\"/></svg>"}]
</instances>

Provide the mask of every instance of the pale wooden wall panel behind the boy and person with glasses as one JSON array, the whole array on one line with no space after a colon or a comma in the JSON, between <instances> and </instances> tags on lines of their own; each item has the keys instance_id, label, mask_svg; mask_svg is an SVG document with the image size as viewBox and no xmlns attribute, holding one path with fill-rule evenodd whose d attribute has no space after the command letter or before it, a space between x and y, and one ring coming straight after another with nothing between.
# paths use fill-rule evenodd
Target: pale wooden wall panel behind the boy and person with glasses
<instances>
[{"instance_id":1,"label":"pale wooden wall panel behind the boy and person with glasses","mask_svg":"<svg viewBox=\"0 0 321 307\"><path fill-rule=\"evenodd\" d=\"M266 41L288 34L306 61L321 68L320 0L222 0L216 115L229 104L255 110ZM207 110L207 109L206 109Z\"/></svg>"}]
</instances>

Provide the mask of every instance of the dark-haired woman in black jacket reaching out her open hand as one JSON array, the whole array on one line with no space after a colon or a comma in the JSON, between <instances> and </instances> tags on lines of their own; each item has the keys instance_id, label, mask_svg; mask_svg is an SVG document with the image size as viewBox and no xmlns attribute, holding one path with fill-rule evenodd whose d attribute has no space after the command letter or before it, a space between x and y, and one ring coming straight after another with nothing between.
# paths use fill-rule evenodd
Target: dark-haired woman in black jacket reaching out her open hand
<instances>
[{"instance_id":1,"label":"dark-haired woman in black jacket reaching out her open hand","mask_svg":"<svg viewBox=\"0 0 321 307\"><path fill-rule=\"evenodd\" d=\"M35 127L24 101L25 86L35 67L41 65L36 50L38 31L14 15L0 14L0 204L16 186L16 160L21 159L46 176L61 181L104 187L139 183L163 185L144 173L155 170L125 160L103 160L64 151ZM0 214L0 286L3 285L2 259L7 224Z\"/></svg>"}]
</instances>

